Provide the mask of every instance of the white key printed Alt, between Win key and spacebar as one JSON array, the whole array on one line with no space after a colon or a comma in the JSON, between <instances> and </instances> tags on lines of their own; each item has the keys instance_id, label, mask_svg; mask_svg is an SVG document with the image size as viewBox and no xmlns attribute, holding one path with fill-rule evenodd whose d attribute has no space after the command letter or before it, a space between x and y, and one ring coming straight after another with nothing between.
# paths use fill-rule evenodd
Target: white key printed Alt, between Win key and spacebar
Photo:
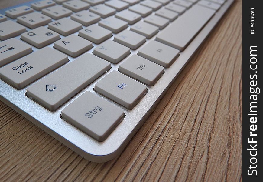
<instances>
[{"instance_id":1,"label":"white key printed Alt, between Win key and spacebar","mask_svg":"<svg viewBox=\"0 0 263 182\"><path fill-rule=\"evenodd\" d=\"M138 55L168 68L179 56L179 50L152 40L138 51Z\"/></svg>"}]
</instances>

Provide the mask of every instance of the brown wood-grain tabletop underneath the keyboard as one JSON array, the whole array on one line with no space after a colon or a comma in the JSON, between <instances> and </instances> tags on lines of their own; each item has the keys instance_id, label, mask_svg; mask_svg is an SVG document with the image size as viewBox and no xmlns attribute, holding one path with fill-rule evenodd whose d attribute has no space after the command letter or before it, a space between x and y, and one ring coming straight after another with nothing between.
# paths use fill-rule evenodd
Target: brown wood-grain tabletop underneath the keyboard
<instances>
[{"instance_id":1,"label":"brown wood-grain tabletop underneath the keyboard","mask_svg":"<svg viewBox=\"0 0 263 182\"><path fill-rule=\"evenodd\" d=\"M0 102L0 181L242 181L241 7L234 2L109 162L85 160Z\"/></svg>"}]
</instances>

